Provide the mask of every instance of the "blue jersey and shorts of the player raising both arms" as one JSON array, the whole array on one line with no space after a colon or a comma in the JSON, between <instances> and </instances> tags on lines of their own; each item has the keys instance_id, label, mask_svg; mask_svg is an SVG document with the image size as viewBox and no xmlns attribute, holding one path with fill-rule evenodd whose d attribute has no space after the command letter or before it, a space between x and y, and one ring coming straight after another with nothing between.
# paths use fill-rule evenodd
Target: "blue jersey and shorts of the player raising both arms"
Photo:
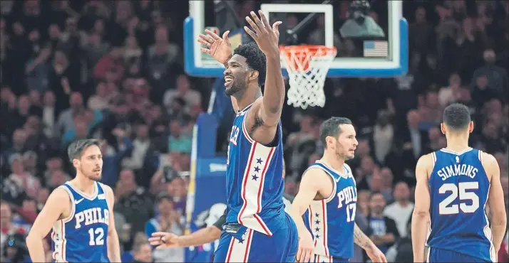
<instances>
[{"instance_id":1,"label":"blue jersey and shorts of the player raising both arms","mask_svg":"<svg viewBox=\"0 0 509 263\"><path fill-rule=\"evenodd\" d=\"M250 138L237 113L227 156L227 217L215 262L294 262L297 227L284 212L281 123L274 147Z\"/></svg>"}]
</instances>

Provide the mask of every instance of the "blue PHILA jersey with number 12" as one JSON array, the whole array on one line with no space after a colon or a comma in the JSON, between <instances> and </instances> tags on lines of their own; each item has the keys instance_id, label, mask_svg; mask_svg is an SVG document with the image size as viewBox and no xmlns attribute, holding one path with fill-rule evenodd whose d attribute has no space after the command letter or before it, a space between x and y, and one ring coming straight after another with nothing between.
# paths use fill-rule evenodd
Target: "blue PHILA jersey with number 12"
<instances>
[{"instance_id":1,"label":"blue PHILA jersey with number 12","mask_svg":"<svg viewBox=\"0 0 509 263\"><path fill-rule=\"evenodd\" d=\"M60 186L71 198L71 215L53 225L51 240L56 262L110 262L108 259L109 215L106 193L96 182L88 196L69 182Z\"/></svg>"}]
</instances>

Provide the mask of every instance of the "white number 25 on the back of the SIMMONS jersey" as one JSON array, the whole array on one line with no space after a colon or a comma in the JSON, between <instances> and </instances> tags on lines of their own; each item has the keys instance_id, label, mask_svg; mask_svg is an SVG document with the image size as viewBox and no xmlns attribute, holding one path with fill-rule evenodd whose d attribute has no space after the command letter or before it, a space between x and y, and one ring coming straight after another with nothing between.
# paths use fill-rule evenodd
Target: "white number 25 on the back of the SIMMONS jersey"
<instances>
[{"instance_id":1,"label":"white number 25 on the back of the SIMMONS jersey","mask_svg":"<svg viewBox=\"0 0 509 263\"><path fill-rule=\"evenodd\" d=\"M478 182L458 183L458 186L454 183L444 183L438 188L438 193L444 194L449 192L451 194L438 204L438 213L441 215L455 215L460 213L460 209L463 213L474 213L479 208L479 197L467 190L477 190L478 188ZM458 195L460 204L451 205L458 198Z\"/></svg>"}]
</instances>

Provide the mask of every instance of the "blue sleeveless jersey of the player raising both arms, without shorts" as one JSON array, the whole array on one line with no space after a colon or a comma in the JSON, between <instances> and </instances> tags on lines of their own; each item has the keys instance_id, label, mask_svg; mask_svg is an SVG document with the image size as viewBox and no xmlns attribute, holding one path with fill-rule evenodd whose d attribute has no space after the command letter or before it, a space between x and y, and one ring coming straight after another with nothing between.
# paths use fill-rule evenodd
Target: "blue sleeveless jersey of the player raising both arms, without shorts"
<instances>
[{"instance_id":1,"label":"blue sleeveless jersey of the player raising both arms, without shorts","mask_svg":"<svg viewBox=\"0 0 509 263\"><path fill-rule=\"evenodd\" d=\"M251 107L252 104L237 113L228 144L226 222L238 222L272 236L272 232L286 224L281 122L277 127L277 146L259 144L245 126L245 116Z\"/></svg>"}]
</instances>

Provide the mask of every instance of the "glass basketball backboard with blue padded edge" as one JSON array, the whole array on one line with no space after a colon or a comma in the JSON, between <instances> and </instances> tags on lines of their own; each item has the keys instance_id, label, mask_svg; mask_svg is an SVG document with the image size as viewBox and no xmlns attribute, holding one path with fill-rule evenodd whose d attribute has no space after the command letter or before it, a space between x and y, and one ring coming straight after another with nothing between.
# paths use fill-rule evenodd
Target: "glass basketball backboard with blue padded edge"
<instances>
[{"instance_id":1,"label":"glass basketball backboard with blue padded edge","mask_svg":"<svg viewBox=\"0 0 509 263\"><path fill-rule=\"evenodd\" d=\"M272 2L277 2L274 4ZM353 16L345 16L351 1L326 1L317 4L314 0L304 1L256 1L253 9L262 10L269 21L280 20L282 36L280 45L335 45L338 55L334 58L327 77L394 77L408 71L408 23L403 18L403 1L354 1L369 3L368 14L363 22ZM345 6L346 3L346 6ZM242 4L241 4L242 5ZM230 30L233 48L251 41L242 26L245 15L235 6L235 1L189 1L190 16L184 23L185 70L197 77L222 77L224 66L201 53L197 38L205 28L218 31L219 35ZM242 17L236 16L242 13ZM316 14L309 17L309 14ZM306 17L308 16L308 17ZM373 17L373 18L371 18ZM292 38L287 29L299 22L309 20ZM370 36L359 36L366 28L374 28ZM369 29L371 30L371 29ZM293 42L293 43L290 43ZM283 75L287 75L283 68Z\"/></svg>"}]
</instances>

